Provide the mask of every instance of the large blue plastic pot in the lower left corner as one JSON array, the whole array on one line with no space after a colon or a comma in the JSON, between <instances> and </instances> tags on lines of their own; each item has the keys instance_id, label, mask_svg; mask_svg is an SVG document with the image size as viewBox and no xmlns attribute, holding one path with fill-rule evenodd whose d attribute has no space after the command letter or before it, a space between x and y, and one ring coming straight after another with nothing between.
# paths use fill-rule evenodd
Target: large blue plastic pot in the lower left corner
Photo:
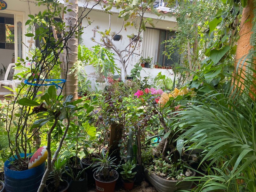
<instances>
[{"instance_id":1,"label":"large blue plastic pot in the lower left corner","mask_svg":"<svg viewBox=\"0 0 256 192\"><path fill-rule=\"evenodd\" d=\"M27 156L32 154L27 154ZM20 154L24 157L24 153ZM15 156L17 157L17 156ZM45 171L45 163L25 171L8 169L14 158L4 162L4 184L6 192L36 192L40 186Z\"/></svg>"}]
</instances>

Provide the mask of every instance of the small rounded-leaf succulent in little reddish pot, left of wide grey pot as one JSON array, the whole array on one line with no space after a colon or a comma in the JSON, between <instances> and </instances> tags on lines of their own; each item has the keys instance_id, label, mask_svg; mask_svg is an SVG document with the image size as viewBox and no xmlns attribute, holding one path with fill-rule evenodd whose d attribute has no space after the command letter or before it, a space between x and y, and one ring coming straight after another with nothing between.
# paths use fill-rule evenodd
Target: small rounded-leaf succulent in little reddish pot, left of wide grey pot
<instances>
[{"instance_id":1,"label":"small rounded-leaf succulent in little reddish pot, left of wide grey pot","mask_svg":"<svg viewBox=\"0 0 256 192\"><path fill-rule=\"evenodd\" d=\"M132 172L132 170L136 168L136 164L133 163L131 161L127 161L125 162L125 164L122 164L122 169L123 171L120 172L121 176L122 176L122 181L123 181L123 185L124 185L124 189L126 190L132 190L133 185L134 185L134 181L135 181L135 174L137 172Z\"/></svg>"}]
</instances>

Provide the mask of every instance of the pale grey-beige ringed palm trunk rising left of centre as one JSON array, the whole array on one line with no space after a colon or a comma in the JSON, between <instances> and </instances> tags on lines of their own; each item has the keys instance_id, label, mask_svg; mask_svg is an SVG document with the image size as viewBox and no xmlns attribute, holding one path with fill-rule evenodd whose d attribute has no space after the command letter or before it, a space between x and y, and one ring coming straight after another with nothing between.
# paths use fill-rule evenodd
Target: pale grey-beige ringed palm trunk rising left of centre
<instances>
[{"instance_id":1,"label":"pale grey-beige ringed palm trunk rising left of centre","mask_svg":"<svg viewBox=\"0 0 256 192\"><path fill-rule=\"evenodd\" d=\"M68 39L67 49L63 51L63 62L62 62L62 73L61 77L66 79L64 86L64 94L73 95L73 100L77 99L77 76L76 71L72 74L68 74L70 69L73 67L74 63L77 61L77 49L78 49L78 39L74 33L77 30L78 23L78 2L77 0L69 0L68 3L65 3L67 10L71 9L72 11L67 12L64 15L64 22L66 23L66 31L72 31L73 35Z\"/></svg>"}]
</instances>

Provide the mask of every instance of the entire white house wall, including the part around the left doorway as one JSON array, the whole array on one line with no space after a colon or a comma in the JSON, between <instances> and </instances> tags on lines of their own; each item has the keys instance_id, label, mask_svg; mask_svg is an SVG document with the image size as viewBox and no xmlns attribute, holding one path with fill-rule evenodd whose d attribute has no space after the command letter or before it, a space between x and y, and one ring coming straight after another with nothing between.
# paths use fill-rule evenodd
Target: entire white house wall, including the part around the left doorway
<instances>
[{"instance_id":1,"label":"entire white house wall, including the part around the left doorway","mask_svg":"<svg viewBox=\"0 0 256 192\"><path fill-rule=\"evenodd\" d=\"M31 37L26 37L24 34L26 33L26 30L28 26L24 27L25 22L29 19L28 14L35 15L39 11L44 11L45 7L41 6L40 8L36 6L32 1L20 1L20 0L5 0L7 3L7 9L3 10L1 12L3 13L12 13L12 14L21 14L23 15L23 27L22 27L22 32L23 32L23 43L26 45L23 45L23 58L26 58L29 56L28 54L28 46L29 43L28 41L31 39ZM36 1L34 1L36 2ZM90 5L91 4L91 5ZM95 4L95 1L92 1L89 5L92 6ZM79 0L79 6L83 6L83 2ZM95 8L96 9L96 8ZM117 16L119 14L120 10L113 10L113 15L111 15L111 31L112 32L119 32L119 30L122 28L123 21L122 19L118 19ZM158 29L174 29L176 26L175 18L174 17L168 17L167 15L163 15L161 17L157 17L155 14L152 13L147 13L147 17L154 18L154 23L156 25L156 28ZM93 31L92 29L95 28L95 26L100 26L98 31L105 31L105 29L108 29L109 25L109 14L105 13L102 11L102 6L98 5L97 10L93 10L92 12L89 13L88 17L90 18L90 21L93 21L91 25L89 25L87 28L84 29L84 34L82 35L83 38L83 44L85 44L88 48L91 48L92 46L96 45L97 43L93 42L91 38L93 37ZM85 27L87 26L87 21L83 20L82 25ZM149 25L146 25L147 27L151 27ZM131 34L136 34L135 28L129 28L127 27L127 30L125 31L124 29L120 32L120 34L123 36L123 39L121 41L115 41L115 45L119 49L124 49L125 46L129 44L129 38L127 35ZM96 32L95 34L95 40L97 42L100 42L100 34ZM34 44L32 44L32 48L34 47ZM134 53L140 54L142 53L142 42L140 43L140 47L138 47ZM117 57L116 57L117 58ZM131 69L133 68L133 65L136 64L136 62L139 62L140 56L137 56L133 54L133 56L129 60L129 65L127 68L127 74L130 74ZM121 67L120 62L116 60L116 63ZM92 67L86 67L87 73L93 72ZM144 71L145 70L145 71ZM173 79L172 75L172 70L167 70L167 69L150 69L150 68L144 68L144 70L141 72L141 76L149 76L150 74L155 77L159 71L163 71L162 73L166 76L169 76ZM170 73L168 72L170 71ZM123 70L122 70L122 74ZM124 79L124 77L123 77ZM94 85L92 85L94 87Z\"/></svg>"}]
</instances>

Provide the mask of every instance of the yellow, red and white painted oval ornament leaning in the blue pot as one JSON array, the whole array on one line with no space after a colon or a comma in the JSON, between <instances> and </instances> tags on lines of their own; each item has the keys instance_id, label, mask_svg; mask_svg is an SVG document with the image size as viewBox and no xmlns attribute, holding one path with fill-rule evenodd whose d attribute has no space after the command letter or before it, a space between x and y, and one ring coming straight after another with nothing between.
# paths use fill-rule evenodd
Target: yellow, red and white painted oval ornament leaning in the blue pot
<instances>
[{"instance_id":1,"label":"yellow, red and white painted oval ornament leaning in the blue pot","mask_svg":"<svg viewBox=\"0 0 256 192\"><path fill-rule=\"evenodd\" d=\"M34 155L31 157L29 163L28 163L28 169L31 169L33 167L37 167L44 163L44 161L47 159L47 150L46 146L40 147L36 150Z\"/></svg>"}]
</instances>

